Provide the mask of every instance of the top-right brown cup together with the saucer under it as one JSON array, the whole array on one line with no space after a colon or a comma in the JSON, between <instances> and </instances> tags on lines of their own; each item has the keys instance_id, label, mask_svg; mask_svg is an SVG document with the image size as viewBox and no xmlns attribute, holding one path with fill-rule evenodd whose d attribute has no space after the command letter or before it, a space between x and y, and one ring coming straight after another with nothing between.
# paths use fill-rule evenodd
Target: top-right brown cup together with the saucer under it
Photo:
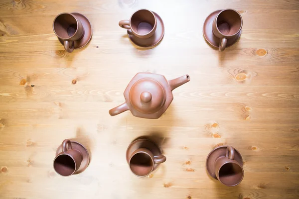
<instances>
[{"instance_id":1,"label":"top-right brown cup together with the saucer under it","mask_svg":"<svg viewBox=\"0 0 299 199\"><path fill-rule=\"evenodd\" d=\"M236 10L216 10L206 18L203 35L210 45L223 51L238 41L242 25L242 17Z\"/></svg>"}]
</instances>

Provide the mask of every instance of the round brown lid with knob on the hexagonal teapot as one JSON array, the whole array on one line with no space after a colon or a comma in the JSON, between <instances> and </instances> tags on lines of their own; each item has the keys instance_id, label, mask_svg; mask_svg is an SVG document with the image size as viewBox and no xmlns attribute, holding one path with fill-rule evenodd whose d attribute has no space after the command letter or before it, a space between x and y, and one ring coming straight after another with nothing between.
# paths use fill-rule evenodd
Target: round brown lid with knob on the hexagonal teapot
<instances>
[{"instance_id":1,"label":"round brown lid with knob on the hexagonal teapot","mask_svg":"<svg viewBox=\"0 0 299 199\"><path fill-rule=\"evenodd\" d=\"M129 96L132 106L145 114L157 112L166 100L166 93L161 83L151 78L138 80L132 86Z\"/></svg>"}]
</instances>

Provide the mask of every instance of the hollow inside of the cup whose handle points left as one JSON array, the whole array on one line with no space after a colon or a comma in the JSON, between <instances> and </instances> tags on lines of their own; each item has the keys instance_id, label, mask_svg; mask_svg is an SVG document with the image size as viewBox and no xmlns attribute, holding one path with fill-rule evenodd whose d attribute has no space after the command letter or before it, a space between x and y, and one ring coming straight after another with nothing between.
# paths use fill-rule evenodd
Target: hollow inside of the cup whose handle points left
<instances>
[{"instance_id":1,"label":"hollow inside of the cup whose handle points left","mask_svg":"<svg viewBox=\"0 0 299 199\"><path fill-rule=\"evenodd\" d=\"M130 20L131 29L139 35L147 35L152 31L155 17L149 10L142 9L135 12Z\"/></svg>"}]
</instances>

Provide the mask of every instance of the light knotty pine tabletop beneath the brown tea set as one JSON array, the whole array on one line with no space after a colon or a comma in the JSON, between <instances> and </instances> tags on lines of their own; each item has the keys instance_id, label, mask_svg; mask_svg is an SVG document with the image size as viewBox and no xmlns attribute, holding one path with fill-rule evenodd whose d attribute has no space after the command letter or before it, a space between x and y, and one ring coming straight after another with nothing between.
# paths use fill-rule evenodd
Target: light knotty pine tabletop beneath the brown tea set
<instances>
[{"instance_id":1,"label":"light knotty pine tabletop beneath the brown tea set","mask_svg":"<svg viewBox=\"0 0 299 199\"><path fill-rule=\"evenodd\" d=\"M164 21L154 48L118 26L139 8ZM219 52L202 25L223 8L241 13L243 29ZM59 43L52 22L61 12L90 19L83 49L66 53ZM298 0L0 0L0 69L0 199L299 198ZM191 81L159 119L111 117L138 72ZM140 136L167 157L147 178L125 159ZM52 167L66 138L90 152L80 175ZM208 153L227 144L244 159L244 180L232 188L205 169Z\"/></svg>"}]
</instances>

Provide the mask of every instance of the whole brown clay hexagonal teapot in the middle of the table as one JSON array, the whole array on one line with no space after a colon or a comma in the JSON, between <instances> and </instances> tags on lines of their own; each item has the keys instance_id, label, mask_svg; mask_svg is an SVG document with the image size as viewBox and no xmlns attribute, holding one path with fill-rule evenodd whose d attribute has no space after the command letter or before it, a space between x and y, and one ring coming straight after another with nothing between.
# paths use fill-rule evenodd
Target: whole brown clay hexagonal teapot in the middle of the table
<instances>
[{"instance_id":1,"label":"whole brown clay hexagonal teapot in the middle of the table","mask_svg":"<svg viewBox=\"0 0 299 199\"><path fill-rule=\"evenodd\" d=\"M173 100L172 90L189 81L189 75L167 81L162 75L137 73L124 92L126 102L109 110L109 114L130 110L137 117L159 118Z\"/></svg>"}]
</instances>

